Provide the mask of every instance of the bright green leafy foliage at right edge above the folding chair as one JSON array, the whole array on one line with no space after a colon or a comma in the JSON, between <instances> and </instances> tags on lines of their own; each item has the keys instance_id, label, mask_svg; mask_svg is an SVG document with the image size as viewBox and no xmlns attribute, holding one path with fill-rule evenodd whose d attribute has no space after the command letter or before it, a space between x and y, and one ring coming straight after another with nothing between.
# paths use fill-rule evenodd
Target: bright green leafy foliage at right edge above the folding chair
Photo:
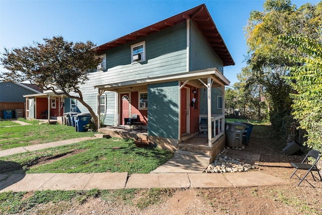
<instances>
[{"instance_id":1,"label":"bright green leafy foliage at right edge above the folding chair","mask_svg":"<svg viewBox=\"0 0 322 215\"><path fill-rule=\"evenodd\" d=\"M287 77L293 88L294 119L300 128L306 130L309 148L322 149L322 40L304 37L280 37L287 45L295 45L302 56L286 54L298 62L290 67L291 75Z\"/></svg>"}]
</instances>

